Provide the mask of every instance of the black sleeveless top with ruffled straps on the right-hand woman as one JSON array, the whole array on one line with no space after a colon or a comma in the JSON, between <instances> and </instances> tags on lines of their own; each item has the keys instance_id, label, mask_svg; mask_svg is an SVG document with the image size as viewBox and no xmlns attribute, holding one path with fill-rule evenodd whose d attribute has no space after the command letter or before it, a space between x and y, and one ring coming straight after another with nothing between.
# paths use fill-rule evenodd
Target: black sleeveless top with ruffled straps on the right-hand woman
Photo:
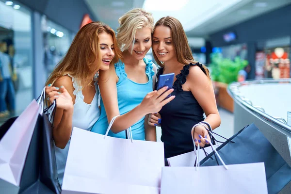
<instances>
[{"instance_id":1,"label":"black sleeveless top with ruffled straps on the right-hand woman","mask_svg":"<svg viewBox=\"0 0 291 194\"><path fill-rule=\"evenodd\" d=\"M172 95L176 96L171 102L162 107L162 137L164 143L165 158L170 158L194 150L191 137L192 127L203 121L203 109L195 99L191 91L183 91L182 85L187 81L190 66L197 65L206 74L201 64L184 65L181 73L176 76L173 84ZM159 68L157 78L163 74L163 68ZM156 83L157 88L157 83Z\"/></svg>"}]
</instances>

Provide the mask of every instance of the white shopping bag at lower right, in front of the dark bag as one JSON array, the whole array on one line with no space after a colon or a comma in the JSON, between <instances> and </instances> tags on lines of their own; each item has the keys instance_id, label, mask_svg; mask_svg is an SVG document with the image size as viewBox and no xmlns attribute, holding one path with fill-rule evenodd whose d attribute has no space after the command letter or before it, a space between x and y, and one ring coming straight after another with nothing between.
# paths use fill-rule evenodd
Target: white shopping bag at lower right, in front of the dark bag
<instances>
[{"instance_id":1,"label":"white shopping bag at lower right, in front of the dark bag","mask_svg":"<svg viewBox=\"0 0 291 194\"><path fill-rule=\"evenodd\" d=\"M161 194L268 194L263 162L227 166L221 162L223 166L163 167Z\"/></svg>"}]
</instances>

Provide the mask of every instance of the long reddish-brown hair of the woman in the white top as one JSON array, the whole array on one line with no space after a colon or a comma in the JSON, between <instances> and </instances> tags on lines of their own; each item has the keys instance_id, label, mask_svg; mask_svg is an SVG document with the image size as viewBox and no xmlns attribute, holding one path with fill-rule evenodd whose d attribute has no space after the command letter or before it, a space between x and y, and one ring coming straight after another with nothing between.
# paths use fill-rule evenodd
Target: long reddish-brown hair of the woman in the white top
<instances>
[{"instance_id":1,"label":"long reddish-brown hair of the woman in the white top","mask_svg":"<svg viewBox=\"0 0 291 194\"><path fill-rule=\"evenodd\" d=\"M121 58L121 51L117 46L115 32L101 22L92 22L83 26L76 34L65 57L52 71L46 85L49 83L53 84L59 77L65 74L73 76L82 88L89 85L95 73L99 70L99 65L95 67L92 64L96 60L99 62L98 64L101 64L102 61L98 44L98 34L102 32L112 35L115 56L111 65L116 63Z\"/></svg>"}]
</instances>

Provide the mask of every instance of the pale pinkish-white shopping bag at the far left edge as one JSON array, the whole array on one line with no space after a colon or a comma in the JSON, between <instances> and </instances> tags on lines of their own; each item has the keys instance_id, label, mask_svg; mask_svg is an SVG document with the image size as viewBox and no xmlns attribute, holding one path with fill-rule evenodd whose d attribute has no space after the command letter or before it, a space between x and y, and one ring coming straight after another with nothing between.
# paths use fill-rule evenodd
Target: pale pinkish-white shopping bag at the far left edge
<instances>
[{"instance_id":1,"label":"pale pinkish-white shopping bag at the far left edge","mask_svg":"<svg viewBox=\"0 0 291 194\"><path fill-rule=\"evenodd\" d=\"M38 111L39 105L32 100L0 140L0 188L3 190L12 185L19 187Z\"/></svg>"}]
</instances>

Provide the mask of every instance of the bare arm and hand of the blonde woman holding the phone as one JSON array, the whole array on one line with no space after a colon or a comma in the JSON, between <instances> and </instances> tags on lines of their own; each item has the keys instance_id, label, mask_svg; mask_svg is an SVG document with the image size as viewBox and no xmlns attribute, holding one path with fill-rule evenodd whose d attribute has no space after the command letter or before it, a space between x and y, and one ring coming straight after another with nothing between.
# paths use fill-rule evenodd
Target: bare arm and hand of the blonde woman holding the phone
<instances>
[{"instance_id":1,"label":"bare arm and hand of the blonde woman holding the phone","mask_svg":"<svg viewBox=\"0 0 291 194\"><path fill-rule=\"evenodd\" d=\"M100 71L98 82L108 122L110 122L114 116L120 114L117 100L117 81L118 77L114 67L111 67L108 71ZM174 96L165 99L173 90L168 90L162 94L164 91L166 91L166 88L148 93L142 103L137 107L128 113L118 116L111 128L113 133L128 129L148 113L160 111L163 105L174 99Z\"/></svg>"}]
</instances>

